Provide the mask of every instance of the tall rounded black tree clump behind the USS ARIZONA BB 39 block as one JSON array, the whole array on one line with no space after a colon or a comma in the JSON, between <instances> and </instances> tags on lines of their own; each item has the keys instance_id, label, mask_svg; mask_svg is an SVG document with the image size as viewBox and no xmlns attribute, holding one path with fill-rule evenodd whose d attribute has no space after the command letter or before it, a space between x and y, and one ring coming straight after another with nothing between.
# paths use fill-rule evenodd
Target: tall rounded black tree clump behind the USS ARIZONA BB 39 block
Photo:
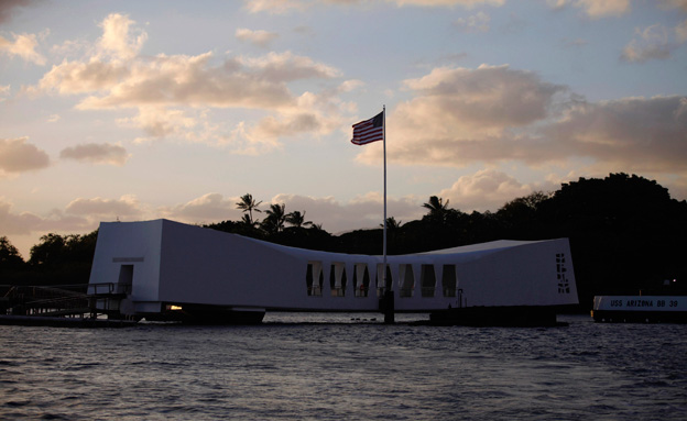
<instances>
[{"instance_id":1,"label":"tall rounded black tree clump behind the USS ARIZONA BB 39 block","mask_svg":"<svg viewBox=\"0 0 687 421\"><path fill-rule=\"evenodd\" d=\"M580 178L538 213L543 234L570 239L581 302L687 280L687 203L656 181L626 174Z\"/></svg>"}]
</instances>

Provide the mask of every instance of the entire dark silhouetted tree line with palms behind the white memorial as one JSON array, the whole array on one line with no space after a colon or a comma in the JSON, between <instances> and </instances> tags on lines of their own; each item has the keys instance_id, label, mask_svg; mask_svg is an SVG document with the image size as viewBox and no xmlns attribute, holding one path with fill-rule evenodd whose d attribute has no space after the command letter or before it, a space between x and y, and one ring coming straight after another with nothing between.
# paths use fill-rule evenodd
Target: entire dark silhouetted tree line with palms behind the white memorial
<instances>
[{"instance_id":1,"label":"entire dark silhouetted tree line with palms behind the white memorial","mask_svg":"<svg viewBox=\"0 0 687 421\"><path fill-rule=\"evenodd\" d=\"M284 203L247 193L236 203L239 221L204 225L277 244L350 254L381 254L382 228L340 235L305 220L305 211L286 212ZM601 293L655 290L666 279L678 293L687 278L687 202L672 199L656 181L626 174L579 178L555 192L537 191L506 202L495 212L466 213L432 196L419 220L388 219L388 253L410 254L493 240L568 237L580 303ZM257 215L264 213L259 220ZM0 237L0 284L58 285L87 282L97 231L85 235L47 234L24 262L6 236Z\"/></svg>"}]
</instances>

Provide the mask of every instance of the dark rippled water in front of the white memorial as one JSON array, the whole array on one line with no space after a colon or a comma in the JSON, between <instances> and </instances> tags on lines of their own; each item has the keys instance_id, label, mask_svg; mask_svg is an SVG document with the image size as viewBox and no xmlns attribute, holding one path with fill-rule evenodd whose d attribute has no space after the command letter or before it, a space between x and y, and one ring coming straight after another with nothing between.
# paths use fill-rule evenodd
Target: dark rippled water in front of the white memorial
<instances>
[{"instance_id":1,"label":"dark rippled water in front of the white memorial","mask_svg":"<svg viewBox=\"0 0 687 421\"><path fill-rule=\"evenodd\" d=\"M0 419L687 419L687 325L406 323L423 318L0 326Z\"/></svg>"}]
</instances>

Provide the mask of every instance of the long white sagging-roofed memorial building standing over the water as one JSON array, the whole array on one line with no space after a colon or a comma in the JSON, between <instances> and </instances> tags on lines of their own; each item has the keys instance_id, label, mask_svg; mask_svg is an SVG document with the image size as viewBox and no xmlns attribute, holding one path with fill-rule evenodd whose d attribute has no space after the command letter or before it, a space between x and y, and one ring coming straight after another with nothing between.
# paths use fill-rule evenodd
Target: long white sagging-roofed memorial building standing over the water
<instances>
[{"instance_id":1,"label":"long white sagging-roofed memorial building standing over the water","mask_svg":"<svg viewBox=\"0 0 687 421\"><path fill-rule=\"evenodd\" d=\"M567 272L561 272L565 257ZM501 241L435 253L389 256L397 311L429 311L468 306L552 306L577 303L568 241ZM324 277L320 293L308 290L308 264ZM363 293L353 289L367 267ZM166 220L102 223L90 282L118 282L122 265L133 265L131 300L138 311L165 303L228 307L377 311L377 278L382 256L314 252L265 243L236 234ZM433 265L436 280L423 295L423 265ZM444 272L456 274L454 292L445 297ZM378 272L379 269L379 272ZM342 275L346 288L342 289ZM560 290L559 279L567 281ZM334 289L330 277L334 275ZM452 282L451 282L452 284ZM366 296L367 295L367 296Z\"/></svg>"}]
</instances>

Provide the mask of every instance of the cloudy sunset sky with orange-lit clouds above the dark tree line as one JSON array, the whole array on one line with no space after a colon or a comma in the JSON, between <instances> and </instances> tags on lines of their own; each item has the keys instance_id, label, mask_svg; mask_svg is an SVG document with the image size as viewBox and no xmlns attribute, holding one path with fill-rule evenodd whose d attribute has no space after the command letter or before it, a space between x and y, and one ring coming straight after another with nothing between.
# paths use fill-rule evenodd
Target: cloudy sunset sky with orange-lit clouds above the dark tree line
<instances>
[{"instance_id":1,"label":"cloudy sunset sky with orange-lit clouds above the dark tree line","mask_svg":"<svg viewBox=\"0 0 687 421\"><path fill-rule=\"evenodd\" d=\"M239 220L329 232L624 171L687 198L687 0L0 2L0 235Z\"/></svg>"}]
</instances>

